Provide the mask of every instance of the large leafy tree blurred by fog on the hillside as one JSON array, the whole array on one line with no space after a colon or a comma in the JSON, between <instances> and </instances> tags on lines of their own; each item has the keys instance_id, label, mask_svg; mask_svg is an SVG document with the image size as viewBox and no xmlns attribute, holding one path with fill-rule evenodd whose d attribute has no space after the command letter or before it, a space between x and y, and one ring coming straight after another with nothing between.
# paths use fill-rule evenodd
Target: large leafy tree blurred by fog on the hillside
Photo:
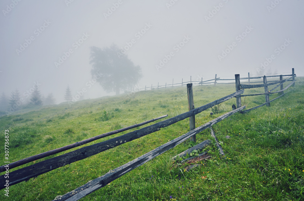
<instances>
[{"instance_id":1,"label":"large leafy tree blurred by fog on the hillside","mask_svg":"<svg viewBox=\"0 0 304 201\"><path fill-rule=\"evenodd\" d=\"M115 91L117 95L120 89L134 86L142 77L140 66L135 66L114 44L103 49L91 47L90 64L92 77L97 77L108 93Z\"/></svg>"}]
</instances>

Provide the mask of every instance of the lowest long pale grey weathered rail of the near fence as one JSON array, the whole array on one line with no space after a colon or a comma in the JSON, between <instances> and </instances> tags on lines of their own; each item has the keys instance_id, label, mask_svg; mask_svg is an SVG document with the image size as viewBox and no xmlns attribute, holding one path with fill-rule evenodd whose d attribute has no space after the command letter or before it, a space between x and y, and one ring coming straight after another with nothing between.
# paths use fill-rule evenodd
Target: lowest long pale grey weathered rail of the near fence
<instances>
[{"instance_id":1,"label":"lowest long pale grey weathered rail of the near fence","mask_svg":"<svg viewBox=\"0 0 304 201\"><path fill-rule=\"evenodd\" d=\"M223 119L231 116L232 114L243 110L245 107L246 106L243 106L236 110L223 114L222 116L220 116L216 119L213 119L212 121L209 121L208 123L206 123L198 128L195 128L194 130L189 131L188 133L185 133L184 135L181 135L180 137L175 138L174 140L171 140L170 142L167 142L164 145L157 147L156 149L134 159L133 161L130 161L116 169L110 170L105 175L102 175L101 177L98 177L98 178L86 183L85 185L80 186L77 189L64 194L63 196L60 197L60 200L61 201L63 201L63 200L75 201L75 200L81 199L82 197L85 197L86 195L106 186L108 183L110 183L110 182L114 181L115 179L121 177L122 175L130 172L131 170L139 167L140 165L143 165L144 163L150 161L151 159L157 157L158 155L161 155L162 153L168 151L171 148L174 148L175 146L179 145L183 141L187 140L189 137L198 134L199 132L205 130L206 128L209 128L210 126L218 123L219 121L222 121Z\"/></svg>"}]
</instances>

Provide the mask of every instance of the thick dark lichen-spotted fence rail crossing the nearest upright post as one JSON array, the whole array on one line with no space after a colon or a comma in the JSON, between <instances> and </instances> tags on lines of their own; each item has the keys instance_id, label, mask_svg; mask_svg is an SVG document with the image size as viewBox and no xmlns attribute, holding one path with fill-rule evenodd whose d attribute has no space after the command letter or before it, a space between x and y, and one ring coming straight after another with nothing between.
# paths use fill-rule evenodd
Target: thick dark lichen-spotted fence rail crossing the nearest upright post
<instances>
[{"instance_id":1,"label":"thick dark lichen-spotted fence rail crossing the nearest upright post","mask_svg":"<svg viewBox=\"0 0 304 201\"><path fill-rule=\"evenodd\" d=\"M16 183L28 180L35 176L41 175L43 173L57 169L64 165L70 164L72 162L76 162L76 161L82 160L84 158L88 158L92 155L98 154L98 153L108 150L110 148L119 146L121 144L132 141L134 139L137 139L137 138L143 137L145 135L148 135L150 133L159 131L161 128L167 127L178 121L189 118L195 114L199 114L200 112L202 112L210 107L213 107L214 105L220 104L220 103L222 103L226 100L229 100L230 98L233 98L242 93L244 93L244 89L234 92L233 94L230 94L228 96L222 97L218 100L215 100L215 101L208 103L206 105L203 105L201 107L197 107L191 111L185 112L183 114L179 114L175 117L166 119L164 121L157 122L156 124L141 128L136 131L126 133L125 135L121 135L121 136L112 138L107 141L99 142L94 145L86 146L86 147L77 149L75 151L72 151L72 152L69 152L69 153L54 157L54 158L50 158L45 161L38 162L34 165L30 165L28 167L15 170L13 172L10 172L10 174L9 174L9 178L10 178L9 185L12 186ZM1 175L0 176L0 189L4 188L4 181L5 181L4 175Z\"/></svg>"}]
</instances>

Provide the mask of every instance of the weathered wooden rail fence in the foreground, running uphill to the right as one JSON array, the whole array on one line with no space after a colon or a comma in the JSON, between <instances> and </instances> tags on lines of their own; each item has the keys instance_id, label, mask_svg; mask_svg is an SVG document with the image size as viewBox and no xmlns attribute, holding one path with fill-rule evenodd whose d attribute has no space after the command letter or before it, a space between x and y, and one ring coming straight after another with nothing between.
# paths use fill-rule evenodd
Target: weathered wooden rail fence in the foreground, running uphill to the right
<instances>
[{"instance_id":1,"label":"weathered wooden rail fence in the foreground, running uphill to the right","mask_svg":"<svg viewBox=\"0 0 304 201\"><path fill-rule=\"evenodd\" d=\"M218 100L215 100L213 102L210 102L206 105L197 107L197 108L194 108L194 101L193 101L193 94L192 94L192 83L188 83L187 84L188 104L189 104L189 111L188 112L185 112L185 113L179 114L175 117L172 117L172 118L157 122L155 124L146 126L146 127L141 128L139 130L126 133L125 135L121 135L121 136L118 136L118 137L115 137L115 138L112 138L112 139L109 139L109 140L106 140L106 141L102 141L102 142L99 142L99 143L96 143L96 144L93 144L93 145L89 145L89 146L86 146L86 147L83 147L83 148L79 148L77 150L65 153L63 155L59 155L59 156L56 156L54 158L50 158L50 159L35 163L33 165L29 165L27 167L24 167L24 168L15 170L13 172L10 172L9 173L9 186L12 186L12 185L17 184L17 183L22 182L22 181L26 181L30 178L33 178L33 177L36 177L36 176L41 175L43 173L52 171L52 170L57 169L59 167L71 164L72 162L76 162L76 161L88 158L92 155L95 155L95 154L98 154L98 153L103 152L105 150L108 150L110 148L122 145L126 142L130 142L134 139L143 137L143 136L148 135L150 133L159 131L159 130L161 130L161 128L167 127L169 125L172 125L172 124L174 124L178 121L184 120L186 118L190 119L190 125L192 124L192 126L190 126L190 131L185 133L184 135L181 135L180 137L175 138L174 140L171 140L168 143L159 146L158 148L156 148L156 149L154 149L154 150L152 150L152 151L134 159L133 161L130 161L130 162L114 169L114 170L109 171L105 175L102 175L101 177L98 177L98 178L86 183L85 185L80 186L77 189L64 194L63 196L57 196L54 200L57 200L57 199L60 199L60 200L78 200L78 199L81 199L82 197L94 192L95 190L104 187L108 183L110 183L113 180L119 178L120 176L126 174L127 172L130 172L131 170L135 169L136 167L139 167L140 165L143 165L144 163L146 163L146 162L150 161L151 159L157 157L158 155L168 151L169 149L174 148L175 146L177 146L181 142L187 140L188 138L191 138L193 141L195 141L195 135L198 134L199 132L205 130L206 128L210 128L212 125L218 123L219 121L222 121L223 119L231 116L232 114L235 114L237 112L241 112L242 110L244 110L246 106L241 107L241 105L240 105L240 97L241 96L248 96L248 95L241 95L241 94L244 93L244 89L245 88L253 88L253 87L261 87L261 86L260 85L240 84L239 75L235 75L235 77L236 77L236 79L235 79L236 80L236 92L234 92L233 94L229 94L225 97L222 97ZM285 87L285 89L287 89L289 86L291 86L292 84L295 83L294 77L295 76L292 77L292 79L293 79L292 83L290 83L287 87ZM291 79L291 78L289 78L289 79ZM280 81L272 82L272 83L267 83L266 78L264 76L263 87L268 87L270 85L277 84L277 83L279 83L278 86L282 86L282 84L284 82L288 81L289 79L280 80ZM277 87L275 87L275 88L277 88ZM272 90L274 90L274 89L272 89ZM268 92L268 89L267 89L267 92L266 92L266 88L265 88L265 93L263 93L263 94L269 95L269 94L272 94L272 93L279 93L279 92L283 92L285 89L281 89L280 91L277 91L277 92L270 92L270 91ZM250 94L250 95L262 95L262 94ZM281 96L279 96L279 97L281 97ZM204 125L199 126L198 128L195 128L195 126L193 126L193 125L195 125L195 118L194 117L195 117L196 114L199 114L200 112L205 111L206 109L208 109L210 107L213 107L217 104L223 103L224 101L229 100L229 99L234 98L234 97L237 99L237 108L236 109L234 109L233 111L230 111L226 114L223 114L220 117L218 117L216 119L213 119L212 121L209 121L208 123L206 123ZM273 99L273 100L275 100L275 99ZM271 101L273 101L273 100L271 100ZM267 99L266 99L265 104L267 104L271 101L267 101ZM261 107L262 105L260 105L258 107ZM250 111L250 110L256 109L256 108L257 107L251 108L247 111ZM246 111L244 111L244 112L246 112ZM61 147L61 148L57 148L55 150L44 152L42 154L31 156L29 158L25 158L25 159L19 160L17 162L10 163L9 167L10 167L10 169L12 169L14 167L18 167L20 165L23 165L23 164L26 164L28 162L37 160L39 158L43 158L43 157L46 157L46 156L49 156L49 155L53 155L55 153L65 151L67 149L71 149L71 148L83 145L85 143L88 143L90 141L100 139L100 138L105 137L105 136L113 135L113 134L128 130L130 128L135 128L139 125L147 124L149 122L164 118L166 116L168 116L168 115L164 115L162 117L155 118L155 119L143 122L141 124L136 124L136 125L133 125L133 126L130 126L130 127L126 127L126 128L123 128L123 129L116 130L116 131L111 131L111 132L106 133L106 134L98 135L98 136L95 136L93 138L89 138L87 140L81 141L81 142L76 142L76 143L71 144L71 145L67 145L67 146L64 146L64 147ZM213 133L213 135L214 135L214 133ZM5 166L1 166L0 167L0 172L4 172L4 171L5 171ZM4 179L4 176L5 175L0 176L0 189L3 189L5 187L4 185L5 185L6 181Z\"/></svg>"}]
</instances>

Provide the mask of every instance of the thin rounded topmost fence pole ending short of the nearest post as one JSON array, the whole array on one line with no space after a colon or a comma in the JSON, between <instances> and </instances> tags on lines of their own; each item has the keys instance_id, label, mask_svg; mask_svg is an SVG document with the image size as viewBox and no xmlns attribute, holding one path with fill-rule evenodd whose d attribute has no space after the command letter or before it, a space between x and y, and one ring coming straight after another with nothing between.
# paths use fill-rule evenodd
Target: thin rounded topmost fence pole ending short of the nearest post
<instances>
[{"instance_id":1,"label":"thin rounded topmost fence pole ending short of the nearest post","mask_svg":"<svg viewBox=\"0 0 304 201\"><path fill-rule=\"evenodd\" d=\"M97 135L97 136L94 136L92 138L88 138L88 139L85 139L85 140L82 140L82 141L79 141L79 142L75 142L75 143L73 143L71 145L66 145L64 147L60 147L60 148L53 149L53 150L50 150L50 151L47 151L47 152L43 152L43 153L40 153L40 154L37 154L37 155L34 155L34 156L30 156L28 158L23 158L23 159L21 159L19 161L10 163L9 164L9 168L13 169L15 167L18 167L20 165L23 165L23 164L26 164L26 163L38 160L40 158L44 158L44 157L47 157L47 156L50 156L50 155L54 155L54 154L57 154L57 153L69 150L71 148L75 148L75 147L87 144L89 142L92 142L92 141L95 141L95 140L98 140L98 139L101 139L101 138L104 138L104 137L107 137L107 136L110 136L110 135L114 135L114 134L117 134L117 133L120 133L120 132L123 132L123 131L127 131L127 130L130 130L132 128L136 128L136 127L148 124L150 122L153 122L153 121L165 118L167 116L168 116L168 114L163 115L161 117L157 117L157 118L148 120L148 121L144 121L144 122L139 123L139 124L134 124L132 126L128 126L128 127L125 127L125 128L121 128L121 129L115 130L115 131L111 131L111 132L107 132L107 133L104 133L104 134L101 134L101 135ZM4 171L5 171L5 166L2 165L0 167L0 172L4 172Z\"/></svg>"}]
</instances>

